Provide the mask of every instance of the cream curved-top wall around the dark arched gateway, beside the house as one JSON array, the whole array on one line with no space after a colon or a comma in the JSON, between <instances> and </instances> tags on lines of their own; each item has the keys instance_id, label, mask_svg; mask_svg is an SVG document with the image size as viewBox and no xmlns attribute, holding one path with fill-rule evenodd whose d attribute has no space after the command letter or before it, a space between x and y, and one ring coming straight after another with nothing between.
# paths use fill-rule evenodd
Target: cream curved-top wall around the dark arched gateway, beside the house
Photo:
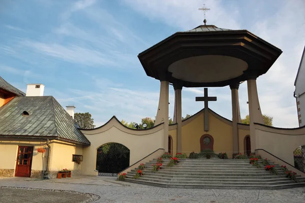
<instances>
[{"instance_id":1,"label":"cream curved-top wall around the dark arched gateway, beside the house","mask_svg":"<svg viewBox=\"0 0 305 203\"><path fill-rule=\"evenodd\" d=\"M107 143L119 143L127 147L130 150L130 165L163 148L162 129L163 124L147 130L132 130L112 118L100 128L82 130L91 143L89 147L83 149L82 174L97 175L95 171L97 149Z\"/></svg>"}]
</instances>

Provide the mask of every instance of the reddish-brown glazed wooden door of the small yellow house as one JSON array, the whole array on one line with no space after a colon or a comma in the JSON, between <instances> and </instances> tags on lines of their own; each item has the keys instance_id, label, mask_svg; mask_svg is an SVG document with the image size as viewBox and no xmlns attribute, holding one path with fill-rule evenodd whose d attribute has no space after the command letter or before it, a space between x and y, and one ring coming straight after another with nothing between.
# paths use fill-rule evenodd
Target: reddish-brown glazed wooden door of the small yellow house
<instances>
[{"instance_id":1,"label":"reddish-brown glazed wooden door of the small yellow house","mask_svg":"<svg viewBox=\"0 0 305 203\"><path fill-rule=\"evenodd\" d=\"M31 177L33 147L18 146L15 176Z\"/></svg>"}]
</instances>

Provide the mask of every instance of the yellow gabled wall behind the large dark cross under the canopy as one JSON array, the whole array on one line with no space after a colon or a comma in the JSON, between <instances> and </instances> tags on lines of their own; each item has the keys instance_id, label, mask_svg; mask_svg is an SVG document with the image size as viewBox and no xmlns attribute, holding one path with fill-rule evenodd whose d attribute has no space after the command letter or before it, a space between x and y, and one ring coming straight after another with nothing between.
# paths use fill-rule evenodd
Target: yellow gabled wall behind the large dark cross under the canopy
<instances>
[{"instance_id":1,"label":"yellow gabled wall behind the large dark cross under the canopy","mask_svg":"<svg viewBox=\"0 0 305 203\"><path fill-rule=\"evenodd\" d=\"M192 151L200 152L200 137L203 134L210 134L214 138L214 151L225 151L228 153L228 156L232 156L232 126L209 113L209 131L205 132L203 112L195 116L196 118L188 124L184 124L187 120L182 122L182 151L187 154Z\"/></svg>"}]
</instances>

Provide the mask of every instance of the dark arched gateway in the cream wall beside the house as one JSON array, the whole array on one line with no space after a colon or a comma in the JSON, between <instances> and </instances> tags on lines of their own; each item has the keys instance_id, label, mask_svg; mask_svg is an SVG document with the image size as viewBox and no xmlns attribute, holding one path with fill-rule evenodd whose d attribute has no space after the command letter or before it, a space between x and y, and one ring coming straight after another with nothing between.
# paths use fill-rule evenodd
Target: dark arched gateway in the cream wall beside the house
<instances>
[{"instance_id":1,"label":"dark arched gateway in the cream wall beside the house","mask_svg":"<svg viewBox=\"0 0 305 203\"><path fill-rule=\"evenodd\" d=\"M97 149L97 170L101 176L116 176L129 166L130 150L119 143L107 143Z\"/></svg>"}]
</instances>

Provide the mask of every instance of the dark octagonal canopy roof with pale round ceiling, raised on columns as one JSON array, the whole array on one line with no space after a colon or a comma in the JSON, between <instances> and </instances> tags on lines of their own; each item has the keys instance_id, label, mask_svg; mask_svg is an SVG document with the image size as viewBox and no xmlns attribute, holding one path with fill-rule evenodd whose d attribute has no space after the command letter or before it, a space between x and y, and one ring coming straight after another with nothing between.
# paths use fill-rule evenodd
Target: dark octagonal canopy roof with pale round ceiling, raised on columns
<instances>
[{"instance_id":1,"label":"dark octagonal canopy roof with pale round ceiling, raised on columns","mask_svg":"<svg viewBox=\"0 0 305 203\"><path fill-rule=\"evenodd\" d=\"M266 73L282 51L248 30L200 25L138 55L147 76L185 87L220 87Z\"/></svg>"}]
</instances>

